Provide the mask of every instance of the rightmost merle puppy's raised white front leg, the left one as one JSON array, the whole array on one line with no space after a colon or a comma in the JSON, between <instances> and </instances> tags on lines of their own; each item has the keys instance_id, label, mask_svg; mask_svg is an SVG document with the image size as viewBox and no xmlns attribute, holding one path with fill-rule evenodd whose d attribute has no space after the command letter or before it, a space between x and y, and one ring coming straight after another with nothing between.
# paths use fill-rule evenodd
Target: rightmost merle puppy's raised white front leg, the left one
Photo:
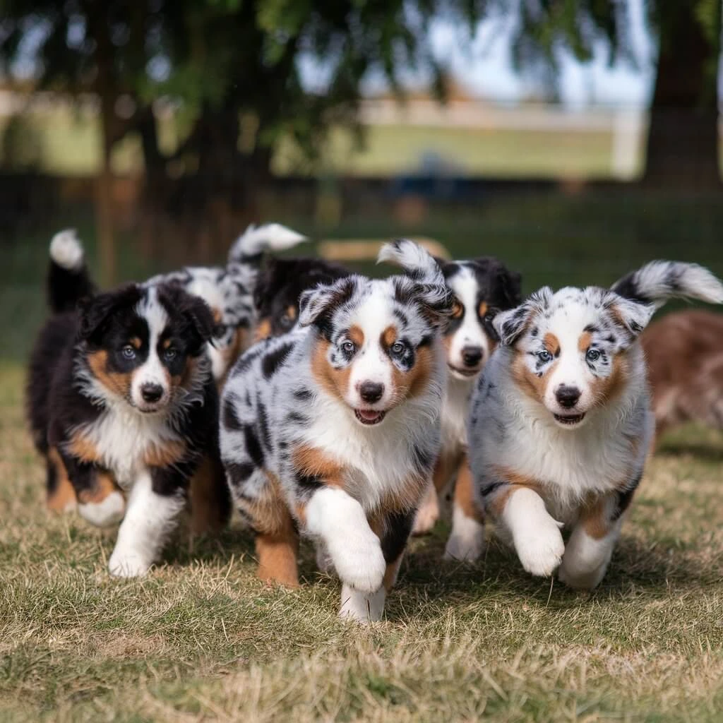
<instances>
[{"instance_id":1,"label":"rightmost merle puppy's raised white front leg, the left one","mask_svg":"<svg viewBox=\"0 0 723 723\"><path fill-rule=\"evenodd\" d=\"M542 577L555 572L565 552L560 534L562 523L547 512L544 500L534 489L502 484L485 506L509 531L515 552L527 572Z\"/></svg>"}]
</instances>

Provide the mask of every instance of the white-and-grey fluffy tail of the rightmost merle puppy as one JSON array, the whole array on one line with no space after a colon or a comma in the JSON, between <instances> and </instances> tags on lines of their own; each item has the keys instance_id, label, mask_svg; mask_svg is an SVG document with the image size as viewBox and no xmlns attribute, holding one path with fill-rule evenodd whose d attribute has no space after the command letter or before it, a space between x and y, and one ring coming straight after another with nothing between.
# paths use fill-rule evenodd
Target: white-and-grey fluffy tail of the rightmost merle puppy
<instances>
[{"instance_id":1,"label":"white-and-grey fluffy tail of the rightmost merle puppy","mask_svg":"<svg viewBox=\"0 0 723 723\"><path fill-rule=\"evenodd\" d=\"M611 288L626 299L654 304L656 309L668 299L723 303L723 283L713 273L698 264L680 261L651 261L623 276Z\"/></svg>"}]
</instances>

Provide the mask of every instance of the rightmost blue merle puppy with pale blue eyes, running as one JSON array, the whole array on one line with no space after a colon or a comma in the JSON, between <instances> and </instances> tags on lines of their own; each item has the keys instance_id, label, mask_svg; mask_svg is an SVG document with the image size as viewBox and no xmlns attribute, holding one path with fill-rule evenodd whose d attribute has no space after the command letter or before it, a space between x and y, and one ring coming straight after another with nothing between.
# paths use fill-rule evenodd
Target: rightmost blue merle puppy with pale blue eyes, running
<instances>
[{"instance_id":1,"label":"rightmost blue merle puppy with pale blue eyes, running","mask_svg":"<svg viewBox=\"0 0 723 723\"><path fill-rule=\"evenodd\" d=\"M612 289L542 288L492 321L500 343L471 402L471 470L529 573L559 567L581 589L602 580L654 431L638 336L672 296L720 303L723 286L657 261Z\"/></svg>"}]
</instances>

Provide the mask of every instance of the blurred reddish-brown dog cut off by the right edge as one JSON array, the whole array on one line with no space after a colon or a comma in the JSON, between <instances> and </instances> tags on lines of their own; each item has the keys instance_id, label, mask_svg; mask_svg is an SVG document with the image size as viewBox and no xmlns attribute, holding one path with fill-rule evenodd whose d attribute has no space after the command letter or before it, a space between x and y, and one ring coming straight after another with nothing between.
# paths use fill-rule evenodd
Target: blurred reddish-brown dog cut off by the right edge
<instances>
[{"instance_id":1,"label":"blurred reddish-brown dog cut off by the right edge","mask_svg":"<svg viewBox=\"0 0 723 723\"><path fill-rule=\"evenodd\" d=\"M723 429L723 315L675 312L641 335L655 436L684 422Z\"/></svg>"}]
</instances>

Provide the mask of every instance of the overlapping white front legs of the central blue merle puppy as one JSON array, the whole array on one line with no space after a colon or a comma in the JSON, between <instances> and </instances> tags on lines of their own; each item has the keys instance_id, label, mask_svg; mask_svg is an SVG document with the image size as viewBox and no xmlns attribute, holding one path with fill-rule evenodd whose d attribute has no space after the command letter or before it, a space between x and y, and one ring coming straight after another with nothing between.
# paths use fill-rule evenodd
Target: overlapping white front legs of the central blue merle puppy
<instances>
[{"instance_id":1,"label":"overlapping white front legs of the central blue merle puppy","mask_svg":"<svg viewBox=\"0 0 723 723\"><path fill-rule=\"evenodd\" d=\"M343 489L322 487L307 502L305 516L307 531L321 538L343 583L340 614L378 620L387 563L364 509Z\"/></svg>"}]
</instances>

